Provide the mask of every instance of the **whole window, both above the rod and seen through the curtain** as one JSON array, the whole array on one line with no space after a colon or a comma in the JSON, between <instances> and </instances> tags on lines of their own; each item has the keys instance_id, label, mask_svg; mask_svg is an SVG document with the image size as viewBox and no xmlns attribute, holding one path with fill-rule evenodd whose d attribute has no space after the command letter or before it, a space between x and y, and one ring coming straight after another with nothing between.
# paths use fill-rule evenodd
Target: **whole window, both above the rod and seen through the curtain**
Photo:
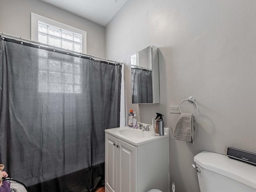
<instances>
[{"instance_id":1,"label":"whole window, both above the rod and seen through the curtain","mask_svg":"<svg viewBox=\"0 0 256 192\"><path fill-rule=\"evenodd\" d=\"M31 13L31 40L86 54L86 31ZM81 58L38 49L38 91L82 93Z\"/></svg>"}]
</instances>

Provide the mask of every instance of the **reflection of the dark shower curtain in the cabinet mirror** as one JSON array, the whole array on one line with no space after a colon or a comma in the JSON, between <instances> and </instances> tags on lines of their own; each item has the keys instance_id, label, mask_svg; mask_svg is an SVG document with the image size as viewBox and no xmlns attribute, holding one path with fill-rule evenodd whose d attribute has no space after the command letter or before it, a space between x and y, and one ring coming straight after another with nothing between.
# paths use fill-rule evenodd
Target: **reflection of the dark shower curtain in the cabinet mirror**
<instances>
[{"instance_id":1,"label":"reflection of the dark shower curtain in the cabinet mirror","mask_svg":"<svg viewBox=\"0 0 256 192\"><path fill-rule=\"evenodd\" d=\"M152 102L152 71L132 68L132 103Z\"/></svg>"}]
</instances>

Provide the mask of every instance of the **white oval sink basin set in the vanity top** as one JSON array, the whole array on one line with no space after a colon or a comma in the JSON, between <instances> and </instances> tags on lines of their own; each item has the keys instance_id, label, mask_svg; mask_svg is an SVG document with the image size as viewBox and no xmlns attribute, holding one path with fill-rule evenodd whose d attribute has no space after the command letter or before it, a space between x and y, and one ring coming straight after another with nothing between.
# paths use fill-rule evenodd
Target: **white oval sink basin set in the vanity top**
<instances>
[{"instance_id":1,"label":"white oval sink basin set in the vanity top","mask_svg":"<svg viewBox=\"0 0 256 192\"><path fill-rule=\"evenodd\" d=\"M143 131L140 129L119 129L117 131L120 135L131 138L148 138L151 137L151 131Z\"/></svg>"}]
</instances>

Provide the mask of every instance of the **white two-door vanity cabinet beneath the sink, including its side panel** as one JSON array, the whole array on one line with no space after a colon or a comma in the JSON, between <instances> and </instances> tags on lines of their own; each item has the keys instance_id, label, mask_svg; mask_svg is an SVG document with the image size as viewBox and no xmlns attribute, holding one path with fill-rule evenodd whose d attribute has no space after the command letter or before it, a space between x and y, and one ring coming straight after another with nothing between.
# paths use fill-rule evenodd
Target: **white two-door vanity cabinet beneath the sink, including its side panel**
<instances>
[{"instance_id":1,"label":"white two-door vanity cabinet beneath the sink, including its side panel","mask_svg":"<svg viewBox=\"0 0 256 192\"><path fill-rule=\"evenodd\" d=\"M168 136L131 144L112 130L105 130L106 192L147 192L153 188L168 192Z\"/></svg>"}]
</instances>

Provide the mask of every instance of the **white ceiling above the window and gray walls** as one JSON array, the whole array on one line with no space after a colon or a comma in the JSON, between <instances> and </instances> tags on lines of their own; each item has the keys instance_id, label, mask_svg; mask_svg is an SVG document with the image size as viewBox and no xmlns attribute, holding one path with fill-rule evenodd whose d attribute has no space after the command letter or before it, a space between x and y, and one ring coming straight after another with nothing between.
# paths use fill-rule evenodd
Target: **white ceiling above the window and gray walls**
<instances>
[{"instance_id":1,"label":"white ceiling above the window and gray walls","mask_svg":"<svg viewBox=\"0 0 256 192\"><path fill-rule=\"evenodd\" d=\"M127 0L41 0L102 26L115 16Z\"/></svg>"}]
</instances>

